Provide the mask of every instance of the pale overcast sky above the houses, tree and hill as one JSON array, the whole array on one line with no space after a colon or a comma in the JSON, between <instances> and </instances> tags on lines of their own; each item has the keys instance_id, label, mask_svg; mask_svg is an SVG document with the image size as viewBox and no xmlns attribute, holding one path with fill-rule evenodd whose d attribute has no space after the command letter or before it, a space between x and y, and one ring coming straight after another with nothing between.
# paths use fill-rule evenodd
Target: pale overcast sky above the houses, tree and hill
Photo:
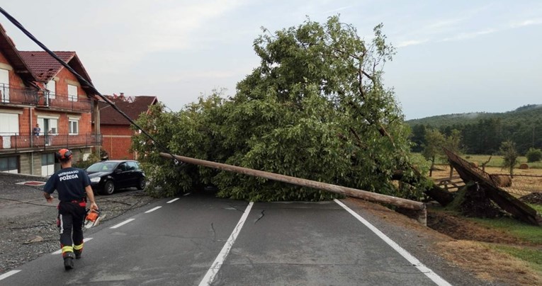
<instances>
[{"instance_id":1,"label":"pale overcast sky above the houses, tree and hill","mask_svg":"<svg viewBox=\"0 0 542 286\"><path fill-rule=\"evenodd\" d=\"M51 50L75 51L103 94L154 95L179 110L252 72L261 27L340 14L397 47L385 66L407 119L542 103L542 1L2 1ZM40 50L0 15L18 50Z\"/></svg>"}]
</instances>

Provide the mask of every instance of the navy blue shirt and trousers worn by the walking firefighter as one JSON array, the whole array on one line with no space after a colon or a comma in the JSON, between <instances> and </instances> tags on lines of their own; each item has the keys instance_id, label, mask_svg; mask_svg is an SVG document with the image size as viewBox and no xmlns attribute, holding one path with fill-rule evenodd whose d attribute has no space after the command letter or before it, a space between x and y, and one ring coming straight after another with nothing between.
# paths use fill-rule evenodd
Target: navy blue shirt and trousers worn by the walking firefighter
<instances>
[{"instance_id":1,"label":"navy blue shirt and trousers worn by the walking firefighter","mask_svg":"<svg viewBox=\"0 0 542 286\"><path fill-rule=\"evenodd\" d=\"M83 223L86 216L86 186L90 185L89 176L80 168L63 168L53 174L43 190L53 193L57 190L58 227L60 228L60 247L62 256L66 253L80 255L83 251ZM73 236L72 236L73 230Z\"/></svg>"}]
</instances>

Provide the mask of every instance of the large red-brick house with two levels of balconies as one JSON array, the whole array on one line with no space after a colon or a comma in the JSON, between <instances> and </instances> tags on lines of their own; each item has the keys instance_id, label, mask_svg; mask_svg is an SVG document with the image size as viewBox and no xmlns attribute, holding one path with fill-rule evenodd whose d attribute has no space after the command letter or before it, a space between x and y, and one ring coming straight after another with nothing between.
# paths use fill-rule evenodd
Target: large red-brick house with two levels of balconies
<instances>
[{"instance_id":1,"label":"large red-brick house with two levels of balconies","mask_svg":"<svg viewBox=\"0 0 542 286\"><path fill-rule=\"evenodd\" d=\"M55 52L90 82L75 52ZM46 52L21 52L0 25L0 171L50 176L55 151L74 159L101 144L91 125L98 98ZM33 128L39 125L40 131Z\"/></svg>"}]
</instances>

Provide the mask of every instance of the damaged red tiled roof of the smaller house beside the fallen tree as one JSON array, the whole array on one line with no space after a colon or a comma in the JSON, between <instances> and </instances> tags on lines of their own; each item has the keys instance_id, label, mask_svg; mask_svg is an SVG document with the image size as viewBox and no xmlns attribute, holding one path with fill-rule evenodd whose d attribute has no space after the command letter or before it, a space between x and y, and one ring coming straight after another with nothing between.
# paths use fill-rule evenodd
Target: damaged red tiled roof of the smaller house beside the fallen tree
<instances>
[{"instance_id":1,"label":"damaged red tiled roof of the smaller house beside the fallen tree","mask_svg":"<svg viewBox=\"0 0 542 286\"><path fill-rule=\"evenodd\" d=\"M141 113L146 113L151 105L158 102L156 96L133 96L128 98L112 98L108 96L108 98L132 120L137 120ZM108 103L99 102L98 107L100 108L100 125L130 125L130 122Z\"/></svg>"}]
</instances>

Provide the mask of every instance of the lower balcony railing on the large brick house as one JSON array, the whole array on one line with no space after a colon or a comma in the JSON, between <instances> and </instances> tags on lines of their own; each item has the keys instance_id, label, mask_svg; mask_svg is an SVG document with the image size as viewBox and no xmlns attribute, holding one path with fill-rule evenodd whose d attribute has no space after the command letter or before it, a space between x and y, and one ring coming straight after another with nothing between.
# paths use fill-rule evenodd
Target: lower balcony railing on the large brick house
<instances>
[{"instance_id":1,"label":"lower balcony railing on the large brick house","mask_svg":"<svg viewBox=\"0 0 542 286\"><path fill-rule=\"evenodd\" d=\"M17 133L0 133L0 151L28 151L74 148L74 147L94 147L101 145L101 135L18 135Z\"/></svg>"}]
</instances>

